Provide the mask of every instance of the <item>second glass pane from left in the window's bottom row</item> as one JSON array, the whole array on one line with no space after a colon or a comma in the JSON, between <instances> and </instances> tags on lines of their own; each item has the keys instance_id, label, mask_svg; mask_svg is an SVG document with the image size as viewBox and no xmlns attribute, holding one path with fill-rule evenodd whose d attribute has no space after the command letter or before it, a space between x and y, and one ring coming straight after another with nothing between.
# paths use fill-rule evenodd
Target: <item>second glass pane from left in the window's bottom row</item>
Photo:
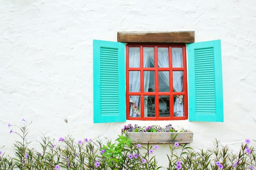
<instances>
[{"instance_id":1,"label":"second glass pane from left in the window's bottom row","mask_svg":"<svg viewBox=\"0 0 256 170\"><path fill-rule=\"evenodd\" d=\"M155 96L144 96L144 117L155 117Z\"/></svg>"}]
</instances>

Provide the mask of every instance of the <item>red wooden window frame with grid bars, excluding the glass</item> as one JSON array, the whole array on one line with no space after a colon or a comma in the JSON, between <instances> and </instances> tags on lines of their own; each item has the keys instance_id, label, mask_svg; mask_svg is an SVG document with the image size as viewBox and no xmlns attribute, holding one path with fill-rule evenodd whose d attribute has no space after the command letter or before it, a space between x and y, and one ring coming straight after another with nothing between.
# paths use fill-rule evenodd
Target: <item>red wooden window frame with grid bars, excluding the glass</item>
<instances>
[{"instance_id":1,"label":"red wooden window frame with grid bars, excluding the glass","mask_svg":"<svg viewBox=\"0 0 256 170\"><path fill-rule=\"evenodd\" d=\"M140 48L140 68L129 68L129 47L139 47ZM143 47L154 47L155 53L155 67L154 68L143 68ZM158 68L157 64L157 48L158 47L168 47L169 53L169 68ZM182 48L183 53L183 67L173 68L172 67L172 48ZM140 71L141 75L141 92L129 92L129 71ZM155 92L144 92L144 71L155 71ZM184 81L183 81L183 92L173 92L173 88L170 88L170 92L158 92L158 71L169 71L170 87L173 87L173 71L183 71ZM141 97L141 117L130 117L129 116L129 96L139 95ZM159 117L159 101L155 100L155 117L144 117L144 95L155 95L157 99L159 95L170 95L170 106L173 105L173 95L183 95L184 104L184 116L174 117L173 107L170 107L170 117ZM186 69L186 46L185 44L173 44L173 43L129 43L126 44L126 119L128 120L185 120L188 119L188 93L187 93L187 69Z\"/></svg>"}]
</instances>

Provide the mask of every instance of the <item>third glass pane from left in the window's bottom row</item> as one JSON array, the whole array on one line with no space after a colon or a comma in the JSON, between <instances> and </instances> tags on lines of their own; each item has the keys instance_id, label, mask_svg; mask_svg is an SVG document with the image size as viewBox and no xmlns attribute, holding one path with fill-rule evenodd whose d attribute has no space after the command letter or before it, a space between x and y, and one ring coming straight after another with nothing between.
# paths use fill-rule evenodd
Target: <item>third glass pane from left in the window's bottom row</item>
<instances>
[{"instance_id":1,"label":"third glass pane from left in the window's bottom row","mask_svg":"<svg viewBox=\"0 0 256 170\"><path fill-rule=\"evenodd\" d=\"M159 117L170 117L170 96L159 96Z\"/></svg>"}]
</instances>

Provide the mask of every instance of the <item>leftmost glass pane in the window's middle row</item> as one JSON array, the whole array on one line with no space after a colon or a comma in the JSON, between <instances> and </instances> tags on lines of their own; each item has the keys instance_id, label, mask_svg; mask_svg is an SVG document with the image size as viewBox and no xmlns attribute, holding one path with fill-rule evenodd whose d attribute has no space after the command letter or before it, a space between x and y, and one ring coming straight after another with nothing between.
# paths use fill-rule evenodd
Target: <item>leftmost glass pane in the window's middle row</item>
<instances>
[{"instance_id":1,"label":"leftmost glass pane in the window's middle row","mask_svg":"<svg viewBox=\"0 0 256 170\"><path fill-rule=\"evenodd\" d=\"M140 92L140 71L129 71L129 91Z\"/></svg>"}]
</instances>

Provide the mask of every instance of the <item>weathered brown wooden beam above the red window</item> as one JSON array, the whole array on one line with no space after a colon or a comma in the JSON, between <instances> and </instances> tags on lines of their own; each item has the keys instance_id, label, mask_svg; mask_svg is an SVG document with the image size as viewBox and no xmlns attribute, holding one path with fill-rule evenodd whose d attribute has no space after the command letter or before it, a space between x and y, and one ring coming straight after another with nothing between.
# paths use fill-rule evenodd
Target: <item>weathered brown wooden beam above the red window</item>
<instances>
[{"instance_id":1,"label":"weathered brown wooden beam above the red window","mask_svg":"<svg viewBox=\"0 0 256 170\"><path fill-rule=\"evenodd\" d=\"M195 42L195 31L118 31L117 42Z\"/></svg>"}]
</instances>

